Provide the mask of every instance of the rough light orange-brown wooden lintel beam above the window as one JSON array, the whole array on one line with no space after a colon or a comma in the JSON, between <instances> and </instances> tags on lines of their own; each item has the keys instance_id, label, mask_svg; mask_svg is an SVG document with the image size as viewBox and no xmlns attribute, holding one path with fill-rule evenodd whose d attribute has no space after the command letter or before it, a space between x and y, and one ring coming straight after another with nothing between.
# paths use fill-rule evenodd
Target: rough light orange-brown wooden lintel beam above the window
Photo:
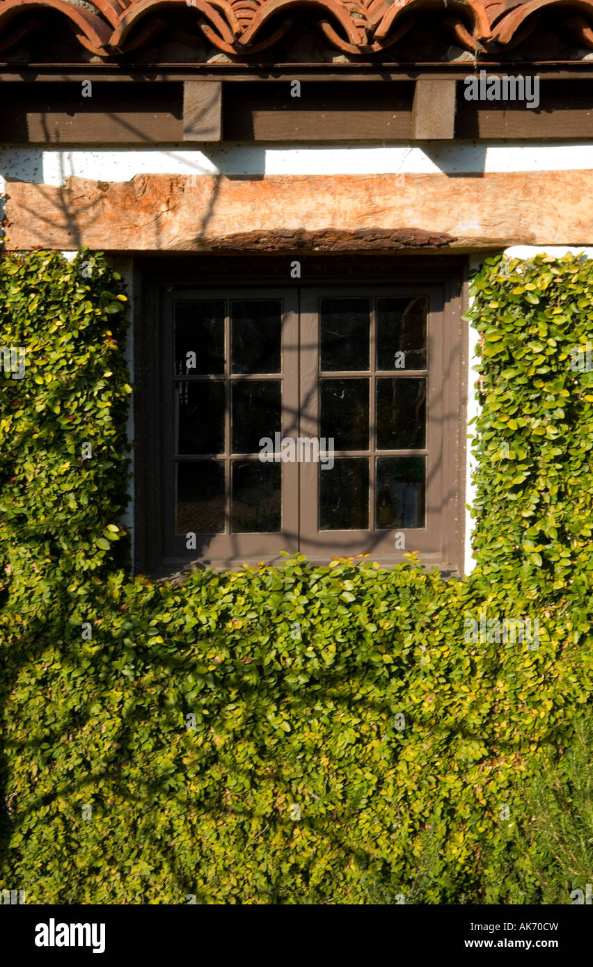
<instances>
[{"instance_id":1,"label":"rough light orange-brown wooden lintel beam above the window","mask_svg":"<svg viewBox=\"0 0 593 967\"><path fill-rule=\"evenodd\" d=\"M335 231L350 249L593 241L593 171L586 170L245 180L142 174L130 182L71 177L60 187L7 179L6 193L9 249L301 250L337 245Z\"/></svg>"}]
</instances>

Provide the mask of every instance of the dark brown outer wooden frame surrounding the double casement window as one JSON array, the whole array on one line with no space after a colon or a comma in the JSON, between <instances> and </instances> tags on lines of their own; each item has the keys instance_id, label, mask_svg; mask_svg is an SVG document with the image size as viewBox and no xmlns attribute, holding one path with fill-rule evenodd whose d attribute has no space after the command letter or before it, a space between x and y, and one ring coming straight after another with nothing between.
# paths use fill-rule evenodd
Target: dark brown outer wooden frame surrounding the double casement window
<instances>
[{"instance_id":1,"label":"dark brown outer wooden frame surrounding the double casement window","mask_svg":"<svg viewBox=\"0 0 593 967\"><path fill-rule=\"evenodd\" d=\"M291 282L290 264L301 262L301 278ZM307 255L195 255L139 258L134 270L134 570L164 577L189 567L234 570L244 560L209 563L192 560L188 553L165 557L163 534L165 507L163 487L163 296L176 289L213 289L222 285L261 293L266 288L319 289L340 286L369 289L386 286L417 291L430 288L432 298L440 292L442 325L442 371L438 396L440 475L439 545L423 549L420 560L446 573L461 573L464 547L465 438L467 334L461 314L466 308L466 258L450 255L344 253L341 256ZM438 298L438 297L437 297ZM432 303L434 310L434 303ZM434 431L437 431L436 427ZM430 430L432 432L432 430ZM411 533L411 532L408 532ZM372 554L381 566L397 563L405 551ZM342 552L342 551L341 551ZM355 552L355 551L351 551ZM343 553L347 553L344 549ZM311 563L327 563L333 556L310 555ZM258 557L258 561L261 556ZM252 563L258 563L253 561Z\"/></svg>"}]
</instances>

